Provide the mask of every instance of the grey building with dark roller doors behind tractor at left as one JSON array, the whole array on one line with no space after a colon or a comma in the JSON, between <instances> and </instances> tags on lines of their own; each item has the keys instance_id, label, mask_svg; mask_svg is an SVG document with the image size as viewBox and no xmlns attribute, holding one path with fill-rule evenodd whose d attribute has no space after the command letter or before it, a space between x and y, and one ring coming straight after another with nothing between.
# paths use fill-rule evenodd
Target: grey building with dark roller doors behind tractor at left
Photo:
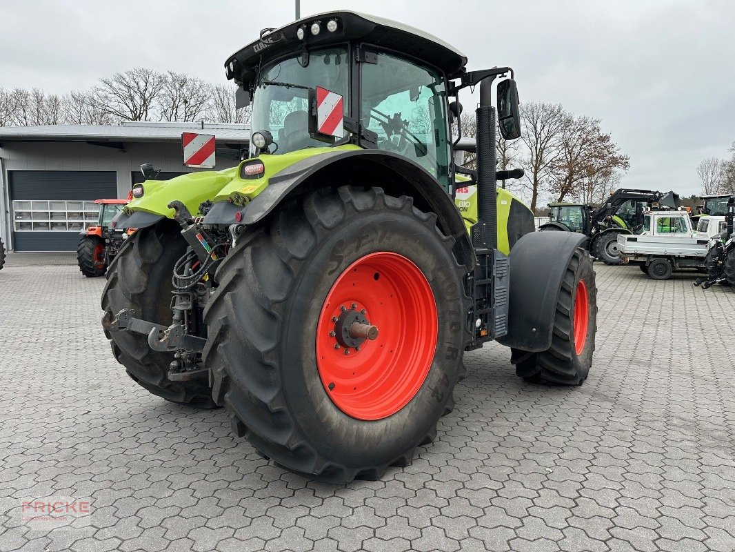
<instances>
[{"instance_id":1,"label":"grey building with dark roller doors behind tractor at left","mask_svg":"<svg viewBox=\"0 0 735 552\"><path fill-rule=\"evenodd\" d=\"M125 198L143 180L141 163L160 178L183 164L182 132L215 135L215 169L237 164L248 146L245 124L130 121L121 125L0 127L0 235L14 251L73 251L79 230L96 222L95 199Z\"/></svg>"}]
</instances>

